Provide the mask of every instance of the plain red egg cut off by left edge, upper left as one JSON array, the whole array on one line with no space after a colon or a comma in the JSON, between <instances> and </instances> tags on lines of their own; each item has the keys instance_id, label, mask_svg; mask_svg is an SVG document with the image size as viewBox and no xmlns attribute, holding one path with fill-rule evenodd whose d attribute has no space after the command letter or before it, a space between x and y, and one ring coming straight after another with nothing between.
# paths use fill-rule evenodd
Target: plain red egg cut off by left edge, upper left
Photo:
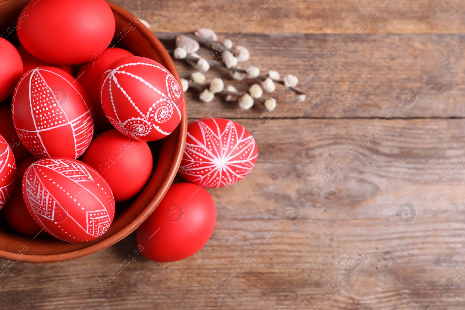
<instances>
[{"instance_id":1,"label":"plain red egg cut off by left edge, upper left","mask_svg":"<svg viewBox=\"0 0 465 310\"><path fill-rule=\"evenodd\" d=\"M23 62L20 53L13 44L0 38L0 101L13 93L21 75Z\"/></svg>"}]
</instances>

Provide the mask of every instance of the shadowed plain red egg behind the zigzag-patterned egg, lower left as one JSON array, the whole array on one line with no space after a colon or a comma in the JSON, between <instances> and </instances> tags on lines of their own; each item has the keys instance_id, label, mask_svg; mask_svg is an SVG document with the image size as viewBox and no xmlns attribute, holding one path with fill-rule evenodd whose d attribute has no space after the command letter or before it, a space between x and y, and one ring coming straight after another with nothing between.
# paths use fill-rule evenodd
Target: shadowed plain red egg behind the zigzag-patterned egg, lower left
<instances>
[{"instance_id":1,"label":"shadowed plain red egg behind the zigzag-patterned egg, lower left","mask_svg":"<svg viewBox=\"0 0 465 310\"><path fill-rule=\"evenodd\" d=\"M15 231L31 237L46 235L46 232L35 222L31 213L27 211L21 189L24 172L26 172L26 169L36 160L37 158L29 156L18 165L16 168L18 175L16 177L13 194L10 200L8 200L7 205L3 208L8 224L10 224Z\"/></svg>"}]
</instances>

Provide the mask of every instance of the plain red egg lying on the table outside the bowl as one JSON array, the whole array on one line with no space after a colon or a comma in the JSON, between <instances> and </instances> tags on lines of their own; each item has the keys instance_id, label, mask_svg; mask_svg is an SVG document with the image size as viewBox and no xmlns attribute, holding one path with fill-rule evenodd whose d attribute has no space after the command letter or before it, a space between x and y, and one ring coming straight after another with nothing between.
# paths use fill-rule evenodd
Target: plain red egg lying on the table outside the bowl
<instances>
[{"instance_id":1,"label":"plain red egg lying on the table outside the bowl","mask_svg":"<svg viewBox=\"0 0 465 310\"><path fill-rule=\"evenodd\" d=\"M216 206L208 191L191 183L174 184L137 229L137 244L150 260L174 262L199 251L215 224Z\"/></svg>"}]
</instances>

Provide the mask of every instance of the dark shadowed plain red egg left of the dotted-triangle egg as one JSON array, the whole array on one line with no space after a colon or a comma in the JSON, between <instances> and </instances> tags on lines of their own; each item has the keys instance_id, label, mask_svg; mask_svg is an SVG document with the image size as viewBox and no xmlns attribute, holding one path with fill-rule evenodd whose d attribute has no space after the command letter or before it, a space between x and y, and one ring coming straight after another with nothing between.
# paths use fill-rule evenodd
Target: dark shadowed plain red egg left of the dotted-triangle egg
<instances>
[{"instance_id":1,"label":"dark shadowed plain red egg left of the dotted-triangle egg","mask_svg":"<svg viewBox=\"0 0 465 310\"><path fill-rule=\"evenodd\" d=\"M31 153L27 152L14 130L10 106L0 106L0 134L7 140L13 151L14 159L18 163L31 156Z\"/></svg>"}]
</instances>

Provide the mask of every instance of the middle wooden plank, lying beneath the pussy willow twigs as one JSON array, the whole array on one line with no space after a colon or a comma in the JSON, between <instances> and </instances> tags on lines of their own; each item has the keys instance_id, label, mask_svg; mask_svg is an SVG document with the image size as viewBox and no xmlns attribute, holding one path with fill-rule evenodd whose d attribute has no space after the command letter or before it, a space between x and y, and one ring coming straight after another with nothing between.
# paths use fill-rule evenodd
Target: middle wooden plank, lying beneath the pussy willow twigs
<instances>
[{"instance_id":1,"label":"middle wooden plank, lying beneath the pussy willow twigs","mask_svg":"<svg viewBox=\"0 0 465 310\"><path fill-rule=\"evenodd\" d=\"M348 46L328 57L343 41ZM344 34L245 34L241 44L250 49L253 59L240 66L296 75L298 87L307 93L306 100L296 104L292 92L278 85L271 94L278 102L275 111L268 112L259 104L244 111L237 103L219 98L203 103L198 92L188 91L189 117L267 119L274 112L275 118L465 116L465 38L458 34L360 34L352 42ZM202 52L213 60L208 51ZM184 61L177 60L175 65L181 77L196 72ZM260 83L258 79L233 80L223 68L212 68L206 76L207 81L221 77L240 91ZM404 95L400 91L404 87L416 93L412 106L408 105L413 94L410 103L399 103L397 96Z\"/></svg>"}]
</instances>

